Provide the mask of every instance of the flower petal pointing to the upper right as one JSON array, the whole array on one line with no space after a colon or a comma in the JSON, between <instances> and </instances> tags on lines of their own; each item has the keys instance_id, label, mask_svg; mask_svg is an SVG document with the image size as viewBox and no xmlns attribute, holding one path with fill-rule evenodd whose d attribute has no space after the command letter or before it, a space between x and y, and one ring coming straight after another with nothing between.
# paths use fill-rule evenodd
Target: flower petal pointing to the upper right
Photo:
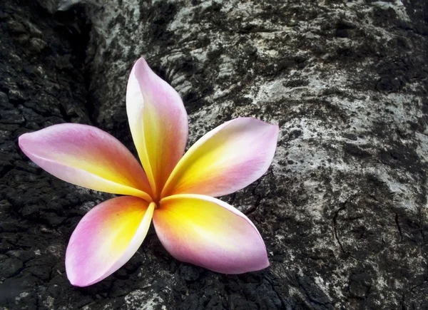
<instances>
[{"instance_id":1,"label":"flower petal pointing to the upper right","mask_svg":"<svg viewBox=\"0 0 428 310\"><path fill-rule=\"evenodd\" d=\"M236 118L200 138L178 162L161 197L175 194L222 196L266 172L277 144L278 126Z\"/></svg>"}]
</instances>

